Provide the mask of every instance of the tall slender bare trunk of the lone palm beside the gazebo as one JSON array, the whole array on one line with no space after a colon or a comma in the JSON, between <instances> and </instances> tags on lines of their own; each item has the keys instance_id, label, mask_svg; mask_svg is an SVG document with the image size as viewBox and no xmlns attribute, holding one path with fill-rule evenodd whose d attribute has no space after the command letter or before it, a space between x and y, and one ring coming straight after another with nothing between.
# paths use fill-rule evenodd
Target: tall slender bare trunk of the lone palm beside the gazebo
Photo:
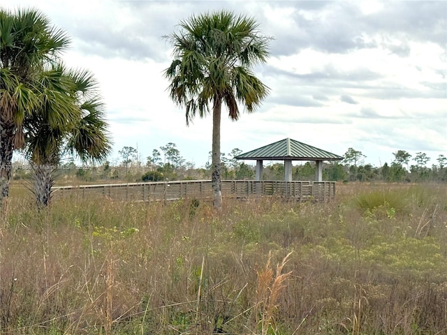
<instances>
[{"instance_id":1,"label":"tall slender bare trunk of the lone palm beside the gazebo","mask_svg":"<svg viewBox=\"0 0 447 335\"><path fill-rule=\"evenodd\" d=\"M212 109L212 193L214 209L222 208L221 193L221 107L222 99L214 96Z\"/></svg>"}]
</instances>

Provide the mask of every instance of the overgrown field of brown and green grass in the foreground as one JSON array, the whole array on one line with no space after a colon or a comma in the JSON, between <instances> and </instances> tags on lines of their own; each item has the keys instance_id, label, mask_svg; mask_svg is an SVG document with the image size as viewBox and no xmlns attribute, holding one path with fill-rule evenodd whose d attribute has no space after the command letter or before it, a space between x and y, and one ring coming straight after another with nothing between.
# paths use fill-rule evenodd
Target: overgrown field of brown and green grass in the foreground
<instances>
[{"instance_id":1,"label":"overgrown field of brown and green grass in the foreground","mask_svg":"<svg viewBox=\"0 0 447 335\"><path fill-rule=\"evenodd\" d=\"M1 334L447 334L446 185L0 216Z\"/></svg>"}]
</instances>

